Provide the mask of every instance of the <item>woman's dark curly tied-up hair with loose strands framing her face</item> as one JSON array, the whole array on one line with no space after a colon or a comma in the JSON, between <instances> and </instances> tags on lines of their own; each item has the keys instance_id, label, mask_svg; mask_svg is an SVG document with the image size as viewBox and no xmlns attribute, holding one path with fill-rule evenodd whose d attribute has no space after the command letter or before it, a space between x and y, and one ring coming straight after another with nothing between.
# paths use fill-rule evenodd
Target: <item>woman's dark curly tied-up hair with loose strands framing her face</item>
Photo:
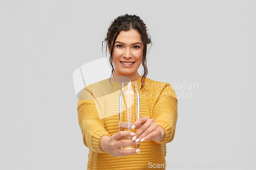
<instances>
[{"instance_id":1,"label":"woman's dark curly tied-up hair with loose strands framing her face","mask_svg":"<svg viewBox=\"0 0 256 170\"><path fill-rule=\"evenodd\" d=\"M137 30L139 32L142 43L143 43L142 66L144 68L144 71L143 71L144 74L141 79L141 88L140 88L142 89L144 86L145 78L147 76L147 72L148 72L146 67L147 44L152 44L151 36L147 33L146 25L143 22L143 20L141 20L140 17L137 15L125 14L125 15L118 16L111 23L108 33L106 34L106 38L104 41L102 41L102 47L103 47L103 42L107 43L106 51L107 51L107 47L109 47L110 64L112 66L112 73L111 73L111 77L112 77L114 75L114 66L112 64L112 61L113 61L113 51L114 51L114 44L115 44L116 38L120 31L129 31L131 29ZM110 81L110 78L109 78L109 81Z\"/></svg>"}]
</instances>

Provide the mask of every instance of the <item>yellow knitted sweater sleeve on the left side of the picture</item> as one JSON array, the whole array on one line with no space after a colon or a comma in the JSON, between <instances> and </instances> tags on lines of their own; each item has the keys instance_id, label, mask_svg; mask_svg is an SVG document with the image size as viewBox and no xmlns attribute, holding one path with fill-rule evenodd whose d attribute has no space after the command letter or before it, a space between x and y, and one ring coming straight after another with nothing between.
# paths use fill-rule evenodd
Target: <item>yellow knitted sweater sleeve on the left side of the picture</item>
<instances>
[{"instance_id":1,"label":"yellow knitted sweater sleeve on the left side of the picture","mask_svg":"<svg viewBox=\"0 0 256 170\"><path fill-rule=\"evenodd\" d=\"M91 85L83 88L77 104L78 123L82 132L83 143L94 152L103 153L99 148L99 139L109 135L104 128L104 119L99 118L100 107L91 92Z\"/></svg>"}]
</instances>

